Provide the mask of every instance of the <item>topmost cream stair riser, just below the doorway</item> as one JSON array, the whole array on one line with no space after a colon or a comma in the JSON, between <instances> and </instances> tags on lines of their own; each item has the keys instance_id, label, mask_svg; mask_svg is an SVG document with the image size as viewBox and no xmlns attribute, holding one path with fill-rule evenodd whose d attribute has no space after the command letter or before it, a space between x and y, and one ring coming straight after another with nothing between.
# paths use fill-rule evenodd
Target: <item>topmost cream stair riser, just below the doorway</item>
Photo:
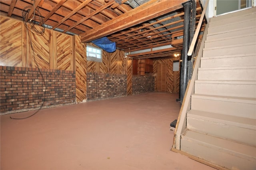
<instances>
[{"instance_id":1,"label":"topmost cream stair riser, just below the doorway","mask_svg":"<svg viewBox=\"0 0 256 170\"><path fill-rule=\"evenodd\" d=\"M234 21L236 19L236 17L244 16L246 18L247 16L249 16L250 14L253 14L253 13L255 13L255 8L250 8L250 9L241 10L238 12L232 12L230 14L213 17L210 19L210 22L218 22L220 20L226 20L226 19L230 19L231 21Z\"/></svg>"}]
</instances>

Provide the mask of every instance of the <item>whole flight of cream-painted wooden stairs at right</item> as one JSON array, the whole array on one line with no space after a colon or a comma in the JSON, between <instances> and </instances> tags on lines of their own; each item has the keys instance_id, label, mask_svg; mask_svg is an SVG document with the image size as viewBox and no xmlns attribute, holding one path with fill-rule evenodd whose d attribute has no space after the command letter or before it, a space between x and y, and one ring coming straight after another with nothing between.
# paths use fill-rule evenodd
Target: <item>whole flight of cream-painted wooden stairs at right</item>
<instances>
[{"instance_id":1,"label":"whole flight of cream-painted wooden stairs at right","mask_svg":"<svg viewBox=\"0 0 256 170\"><path fill-rule=\"evenodd\" d=\"M256 169L256 8L211 18L186 113L175 149L218 169Z\"/></svg>"}]
</instances>

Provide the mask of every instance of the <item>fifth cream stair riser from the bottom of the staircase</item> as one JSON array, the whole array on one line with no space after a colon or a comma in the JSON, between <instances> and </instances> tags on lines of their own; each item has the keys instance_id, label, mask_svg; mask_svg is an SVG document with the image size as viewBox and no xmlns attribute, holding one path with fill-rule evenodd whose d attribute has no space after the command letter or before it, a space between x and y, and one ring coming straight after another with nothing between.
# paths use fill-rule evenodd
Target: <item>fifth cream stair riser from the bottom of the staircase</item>
<instances>
[{"instance_id":1,"label":"fifth cream stair riser from the bottom of the staircase","mask_svg":"<svg viewBox=\"0 0 256 170\"><path fill-rule=\"evenodd\" d=\"M198 70L198 80L256 81L256 69Z\"/></svg>"}]
</instances>

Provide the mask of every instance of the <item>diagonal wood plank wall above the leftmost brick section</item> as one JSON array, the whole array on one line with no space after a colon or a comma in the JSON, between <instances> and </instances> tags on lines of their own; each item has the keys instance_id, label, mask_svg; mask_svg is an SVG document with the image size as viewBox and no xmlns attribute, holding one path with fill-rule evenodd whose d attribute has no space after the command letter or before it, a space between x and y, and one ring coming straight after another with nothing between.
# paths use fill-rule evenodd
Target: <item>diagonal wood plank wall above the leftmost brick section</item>
<instances>
[{"instance_id":1,"label":"diagonal wood plank wall above the leftmost brick section","mask_svg":"<svg viewBox=\"0 0 256 170\"><path fill-rule=\"evenodd\" d=\"M6 16L0 16L0 24L1 66L75 70L72 36L49 29L37 35L22 21Z\"/></svg>"}]
</instances>

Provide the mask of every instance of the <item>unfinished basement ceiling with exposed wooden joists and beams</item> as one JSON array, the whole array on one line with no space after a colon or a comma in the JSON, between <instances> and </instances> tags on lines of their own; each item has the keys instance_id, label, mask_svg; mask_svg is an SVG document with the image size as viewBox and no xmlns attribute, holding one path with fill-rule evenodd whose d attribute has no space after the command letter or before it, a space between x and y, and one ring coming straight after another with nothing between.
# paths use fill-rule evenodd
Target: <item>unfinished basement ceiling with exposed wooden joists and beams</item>
<instances>
[{"instance_id":1,"label":"unfinished basement ceiling with exposed wooden joists and beams","mask_svg":"<svg viewBox=\"0 0 256 170\"><path fill-rule=\"evenodd\" d=\"M107 36L116 42L117 49L130 52L132 58L162 59L174 57L182 49L182 3L187 1L0 0L0 12L3 16L22 20L22 10L28 6L26 10L30 12L26 21L30 21L34 5L47 28L78 34L84 43ZM196 2L197 23L202 8L200 2ZM37 20L36 24L43 23Z\"/></svg>"}]
</instances>

